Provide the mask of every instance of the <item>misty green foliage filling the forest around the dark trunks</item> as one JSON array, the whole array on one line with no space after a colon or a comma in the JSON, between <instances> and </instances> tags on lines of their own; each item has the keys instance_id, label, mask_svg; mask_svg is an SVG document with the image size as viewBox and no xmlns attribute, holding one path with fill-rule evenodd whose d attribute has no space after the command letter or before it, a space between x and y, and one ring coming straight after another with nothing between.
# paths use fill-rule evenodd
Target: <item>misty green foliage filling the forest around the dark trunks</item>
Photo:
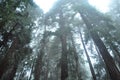
<instances>
[{"instance_id":1,"label":"misty green foliage filling the forest around the dark trunks","mask_svg":"<svg viewBox=\"0 0 120 80\"><path fill-rule=\"evenodd\" d=\"M35 59L38 58L37 54L40 54L40 50L44 46L43 44L45 44L44 54L41 59L43 62L41 64L43 74L40 77L46 80L47 78L48 80L59 80L62 59L61 36L65 36L67 52L64 54L67 54L69 73L67 80L90 80L90 72L86 71L88 67L85 67L84 51L78 40L78 29L80 28L87 47L90 47L89 42L92 38L78 13L83 12L94 27L89 31L99 34L106 48L114 55L114 60L118 63L118 56L120 55L120 19L119 15L117 16L116 14L119 13L119 5L116 4L115 12L113 9L110 13L102 14L91 7L87 1L58 0L53 8L44 14L34 4L33 0L1 0L0 62L2 62L2 59L5 59L6 54L10 53L10 58L6 60L10 66L9 69L13 68L13 63L17 62L17 65L20 65L20 67L17 67L15 79L27 79L29 78L27 73L32 71L30 72L30 79L32 80L35 73L33 72ZM52 31L52 28L55 30ZM42 37L47 37L46 41L42 41ZM14 45L14 38L18 39L18 43L15 44L17 46L14 49L11 49L11 45ZM10 49L11 51L9 52ZM93 49L95 48L93 47ZM96 72L98 71L96 76L100 80L105 80L107 72L103 68L105 66L102 63L102 59L100 60L97 55L93 55L94 57L90 56L91 59L98 59L94 65ZM78 63L75 56L78 57ZM9 71L9 69L7 68L6 71ZM103 73L104 75L100 75Z\"/></svg>"}]
</instances>

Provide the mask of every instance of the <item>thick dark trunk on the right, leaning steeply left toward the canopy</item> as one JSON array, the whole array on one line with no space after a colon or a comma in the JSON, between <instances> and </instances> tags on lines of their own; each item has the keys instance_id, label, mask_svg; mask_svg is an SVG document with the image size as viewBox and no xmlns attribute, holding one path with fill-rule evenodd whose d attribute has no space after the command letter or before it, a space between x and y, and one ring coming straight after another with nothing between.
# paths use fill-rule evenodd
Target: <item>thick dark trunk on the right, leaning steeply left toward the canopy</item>
<instances>
[{"instance_id":1,"label":"thick dark trunk on the right, leaning steeply left toward the canopy","mask_svg":"<svg viewBox=\"0 0 120 80\"><path fill-rule=\"evenodd\" d=\"M104 43L98 36L97 32L93 31L93 26L89 23L85 14L82 11L79 11L79 13L81 14L83 21L85 22L88 30L90 31L93 41L95 42L96 46L98 47L98 49L100 51L100 54L102 55L102 57L105 61L105 64L106 64L106 67L108 69L111 79L112 80L120 80L120 72L119 72L118 68L116 67L116 64L115 64L113 58L107 51L107 48L105 47Z\"/></svg>"}]
</instances>

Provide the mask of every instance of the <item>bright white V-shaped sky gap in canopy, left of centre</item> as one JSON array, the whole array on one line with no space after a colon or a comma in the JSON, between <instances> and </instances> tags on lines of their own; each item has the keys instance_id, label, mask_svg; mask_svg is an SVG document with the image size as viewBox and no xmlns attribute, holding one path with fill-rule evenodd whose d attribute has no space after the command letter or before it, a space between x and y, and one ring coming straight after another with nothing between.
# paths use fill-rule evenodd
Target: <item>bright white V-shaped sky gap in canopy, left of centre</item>
<instances>
[{"instance_id":1,"label":"bright white V-shaped sky gap in canopy, left of centre","mask_svg":"<svg viewBox=\"0 0 120 80\"><path fill-rule=\"evenodd\" d=\"M56 0L34 0L34 2L43 9L44 13L48 12Z\"/></svg>"}]
</instances>

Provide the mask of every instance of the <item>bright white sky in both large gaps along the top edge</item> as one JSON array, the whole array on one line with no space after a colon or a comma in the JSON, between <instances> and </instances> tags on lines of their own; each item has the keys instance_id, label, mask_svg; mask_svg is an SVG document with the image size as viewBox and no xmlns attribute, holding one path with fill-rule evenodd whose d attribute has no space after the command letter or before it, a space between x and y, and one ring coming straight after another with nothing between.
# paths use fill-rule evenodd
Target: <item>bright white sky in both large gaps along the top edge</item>
<instances>
[{"instance_id":1,"label":"bright white sky in both large gaps along the top edge","mask_svg":"<svg viewBox=\"0 0 120 80\"><path fill-rule=\"evenodd\" d=\"M43 9L44 13L48 12L56 1L57 0L34 0L34 2L41 9ZM88 1L92 6L96 7L102 13L106 13L109 11L110 0L88 0Z\"/></svg>"}]
</instances>

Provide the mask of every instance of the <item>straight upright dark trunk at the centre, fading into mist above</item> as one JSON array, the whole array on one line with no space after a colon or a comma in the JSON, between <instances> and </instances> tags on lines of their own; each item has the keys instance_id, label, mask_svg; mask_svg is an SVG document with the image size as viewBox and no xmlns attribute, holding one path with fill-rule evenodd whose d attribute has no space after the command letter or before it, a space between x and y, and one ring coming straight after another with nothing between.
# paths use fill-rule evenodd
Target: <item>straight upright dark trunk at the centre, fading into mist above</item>
<instances>
[{"instance_id":1,"label":"straight upright dark trunk at the centre, fading into mist above","mask_svg":"<svg viewBox=\"0 0 120 80\"><path fill-rule=\"evenodd\" d=\"M60 39L62 44L62 55L61 55L61 80L66 80L68 77L68 62L67 62L67 34L66 34L66 27L65 27L65 21L63 17L62 10L59 14L60 21Z\"/></svg>"}]
</instances>

